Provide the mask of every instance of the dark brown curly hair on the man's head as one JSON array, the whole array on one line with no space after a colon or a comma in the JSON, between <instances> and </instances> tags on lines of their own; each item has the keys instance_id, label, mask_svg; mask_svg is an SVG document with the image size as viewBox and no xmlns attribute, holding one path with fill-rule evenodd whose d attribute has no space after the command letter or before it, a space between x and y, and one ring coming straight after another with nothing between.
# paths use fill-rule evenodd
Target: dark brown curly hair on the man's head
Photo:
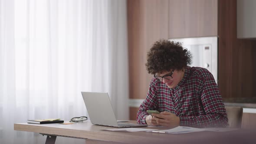
<instances>
[{"instance_id":1,"label":"dark brown curly hair on the man's head","mask_svg":"<svg viewBox=\"0 0 256 144\"><path fill-rule=\"evenodd\" d=\"M161 39L148 51L145 65L148 73L154 75L171 69L181 70L191 64L191 58L190 52L180 42Z\"/></svg>"}]
</instances>

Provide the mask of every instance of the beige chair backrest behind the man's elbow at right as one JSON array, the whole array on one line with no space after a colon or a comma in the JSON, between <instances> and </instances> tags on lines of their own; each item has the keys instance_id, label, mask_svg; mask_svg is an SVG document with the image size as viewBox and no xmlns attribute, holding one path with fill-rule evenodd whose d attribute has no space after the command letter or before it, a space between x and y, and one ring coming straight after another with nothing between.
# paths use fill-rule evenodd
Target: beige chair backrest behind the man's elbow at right
<instances>
[{"instance_id":1,"label":"beige chair backrest behind the man's elbow at right","mask_svg":"<svg viewBox=\"0 0 256 144\"><path fill-rule=\"evenodd\" d=\"M232 107L225 106L229 128L241 128L243 108L242 107Z\"/></svg>"}]
</instances>

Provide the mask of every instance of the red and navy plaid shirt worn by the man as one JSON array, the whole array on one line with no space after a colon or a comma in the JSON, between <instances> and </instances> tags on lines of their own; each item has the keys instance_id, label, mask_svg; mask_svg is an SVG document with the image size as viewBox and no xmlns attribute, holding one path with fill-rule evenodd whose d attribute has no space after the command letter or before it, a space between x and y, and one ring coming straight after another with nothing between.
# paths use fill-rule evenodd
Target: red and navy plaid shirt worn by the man
<instances>
[{"instance_id":1,"label":"red and navy plaid shirt worn by the man","mask_svg":"<svg viewBox=\"0 0 256 144\"><path fill-rule=\"evenodd\" d=\"M147 110L174 113L180 118L181 126L228 126L226 109L213 75L200 67L187 66L183 79L173 89L153 78L137 113L138 124L146 124Z\"/></svg>"}]
</instances>

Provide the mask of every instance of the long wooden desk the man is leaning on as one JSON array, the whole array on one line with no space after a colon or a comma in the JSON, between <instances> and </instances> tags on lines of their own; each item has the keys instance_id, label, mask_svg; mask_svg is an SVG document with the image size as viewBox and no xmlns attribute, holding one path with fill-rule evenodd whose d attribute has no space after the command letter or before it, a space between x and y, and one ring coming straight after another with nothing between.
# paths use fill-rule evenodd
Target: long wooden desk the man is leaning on
<instances>
[{"instance_id":1,"label":"long wooden desk the man is leaning on","mask_svg":"<svg viewBox=\"0 0 256 144\"><path fill-rule=\"evenodd\" d=\"M153 128L149 129L167 129ZM30 131L48 135L46 144L54 144L56 136L82 138L86 144L127 143L127 144L250 144L256 141L256 130L231 132L194 132L187 134L159 134L152 132L103 131L112 127L98 126L84 121L74 124L14 124L16 131Z\"/></svg>"}]
</instances>

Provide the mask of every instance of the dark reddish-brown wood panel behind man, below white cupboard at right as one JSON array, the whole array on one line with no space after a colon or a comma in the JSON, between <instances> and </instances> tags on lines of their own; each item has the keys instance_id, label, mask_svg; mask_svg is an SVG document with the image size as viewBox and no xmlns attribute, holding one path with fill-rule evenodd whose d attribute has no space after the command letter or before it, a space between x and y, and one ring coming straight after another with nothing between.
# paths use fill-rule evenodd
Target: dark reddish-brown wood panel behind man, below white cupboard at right
<instances>
[{"instance_id":1,"label":"dark reddish-brown wood panel behind man, below white cupboard at right","mask_svg":"<svg viewBox=\"0 0 256 144\"><path fill-rule=\"evenodd\" d=\"M256 102L256 40L236 38L236 0L218 1L218 36L218 85L223 100Z\"/></svg>"}]
</instances>

